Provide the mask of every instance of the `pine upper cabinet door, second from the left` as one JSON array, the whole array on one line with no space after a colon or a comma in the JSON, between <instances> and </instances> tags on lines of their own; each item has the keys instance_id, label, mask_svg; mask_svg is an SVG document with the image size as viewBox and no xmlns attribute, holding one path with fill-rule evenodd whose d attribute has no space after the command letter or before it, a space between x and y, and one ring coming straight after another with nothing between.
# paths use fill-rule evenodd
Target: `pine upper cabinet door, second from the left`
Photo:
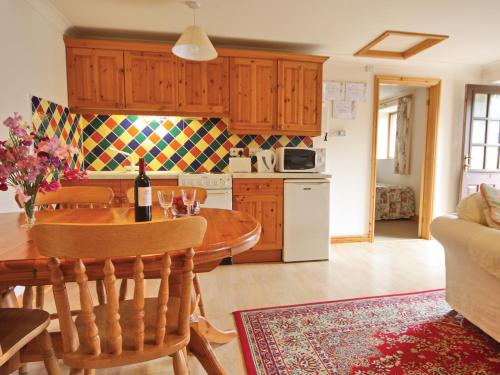
<instances>
[{"instance_id":1,"label":"pine upper cabinet door, second from the left","mask_svg":"<svg viewBox=\"0 0 500 375\"><path fill-rule=\"evenodd\" d=\"M177 59L173 54L125 51L124 59L128 109L177 109Z\"/></svg>"}]
</instances>

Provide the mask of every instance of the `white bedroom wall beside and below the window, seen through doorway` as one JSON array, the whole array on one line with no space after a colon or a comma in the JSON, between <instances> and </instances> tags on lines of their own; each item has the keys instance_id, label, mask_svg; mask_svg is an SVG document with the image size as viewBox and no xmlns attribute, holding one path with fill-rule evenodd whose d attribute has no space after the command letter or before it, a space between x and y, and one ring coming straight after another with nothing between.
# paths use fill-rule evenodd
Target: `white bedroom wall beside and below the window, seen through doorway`
<instances>
[{"instance_id":1,"label":"white bedroom wall beside and below the window, seen through doorway","mask_svg":"<svg viewBox=\"0 0 500 375\"><path fill-rule=\"evenodd\" d=\"M415 193L415 209L418 214L420 208L420 182L424 156L425 126L427 125L427 90L425 88L417 88L412 90L410 94L413 95L410 114L410 174L395 174L394 159L379 159L377 160L377 182L411 187ZM387 115L386 113L382 114Z\"/></svg>"}]
</instances>

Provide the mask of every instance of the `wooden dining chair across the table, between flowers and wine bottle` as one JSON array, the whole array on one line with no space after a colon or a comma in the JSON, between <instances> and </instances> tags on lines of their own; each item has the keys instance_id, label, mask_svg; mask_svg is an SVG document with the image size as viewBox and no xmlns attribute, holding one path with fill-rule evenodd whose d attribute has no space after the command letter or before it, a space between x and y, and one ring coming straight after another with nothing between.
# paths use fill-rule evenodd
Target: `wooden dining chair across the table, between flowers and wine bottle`
<instances>
[{"instance_id":1,"label":"wooden dining chair across the table, between flowers and wine bottle","mask_svg":"<svg viewBox=\"0 0 500 375\"><path fill-rule=\"evenodd\" d=\"M35 198L35 209L38 211L76 208L106 208L113 201L113 189L104 186L70 186L61 187L55 192L39 193ZM22 208L23 203L16 196L16 202ZM101 304L105 303L105 292L102 280L96 280L96 291ZM36 287L35 306L44 306L45 291L43 286ZM23 295L23 307L33 304L33 289L26 287Z\"/></svg>"}]
</instances>

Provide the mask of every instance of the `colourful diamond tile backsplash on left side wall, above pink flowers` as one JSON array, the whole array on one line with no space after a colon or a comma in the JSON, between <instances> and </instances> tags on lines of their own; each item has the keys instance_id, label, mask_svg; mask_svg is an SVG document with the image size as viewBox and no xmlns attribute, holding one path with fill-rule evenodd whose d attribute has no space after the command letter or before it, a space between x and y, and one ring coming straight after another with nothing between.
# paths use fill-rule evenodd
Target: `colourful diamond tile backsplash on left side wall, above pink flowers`
<instances>
[{"instance_id":1,"label":"colourful diamond tile backsplash on left side wall, above pink flowers","mask_svg":"<svg viewBox=\"0 0 500 375\"><path fill-rule=\"evenodd\" d=\"M68 107L38 96L31 97L31 113L33 126L40 133L50 138L56 135L61 141L71 144L79 150L70 161L70 167L82 168L83 154L81 150L83 139L79 127L80 115L71 113Z\"/></svg>"}]
</instances>

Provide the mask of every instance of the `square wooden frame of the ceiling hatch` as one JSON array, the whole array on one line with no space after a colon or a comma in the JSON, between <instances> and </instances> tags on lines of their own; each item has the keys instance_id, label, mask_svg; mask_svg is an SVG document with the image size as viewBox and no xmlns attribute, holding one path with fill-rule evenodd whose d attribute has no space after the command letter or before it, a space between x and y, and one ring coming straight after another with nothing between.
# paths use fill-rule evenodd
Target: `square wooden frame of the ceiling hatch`
<instances>
[{"instance_id":1,"label":"square wooden frame of the ceiling hatch","mask_svg":"<svg viewBox=\"0 0 500 375\"><path fill-rule=\"evenodd\" d=\"M373 49L374 47L376 47L377 44L381 43L383 40L390 37L391 35L424 38L424 40L406 49L405 51L381 51ZM448 38L449 38L448 35L423 34L423 33L412 33L407 31L387 30L382 35L375 38L373 41L371 41L366 46L361 48L358 52L354 54L354 56L406 60L407 58L412 57L417 53L420 53L423 50L426 50Z\"/></svg>"}]
</instances>

